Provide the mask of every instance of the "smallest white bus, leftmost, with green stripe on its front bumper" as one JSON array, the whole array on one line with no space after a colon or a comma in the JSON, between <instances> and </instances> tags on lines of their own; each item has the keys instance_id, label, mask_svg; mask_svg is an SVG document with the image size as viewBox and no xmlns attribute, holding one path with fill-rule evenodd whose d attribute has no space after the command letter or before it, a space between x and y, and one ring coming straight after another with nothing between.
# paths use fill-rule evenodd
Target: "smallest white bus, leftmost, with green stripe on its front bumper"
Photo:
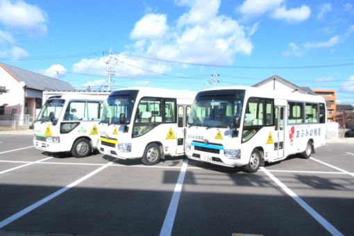
<instances>
[{"instance_id":1,"label":"smallest white bus, leftmost, with green stripe on its front bumper","mask_svg":"<svg viewBox=\"0 0 354 236\"><path fill-rule=\"evenodd\" d=\"M64 94L51 96L34 123L33 144L49 153L71 152L76 158L90 155L99 139L98 124L107 95Z\"/></svg>"}]
</instances>

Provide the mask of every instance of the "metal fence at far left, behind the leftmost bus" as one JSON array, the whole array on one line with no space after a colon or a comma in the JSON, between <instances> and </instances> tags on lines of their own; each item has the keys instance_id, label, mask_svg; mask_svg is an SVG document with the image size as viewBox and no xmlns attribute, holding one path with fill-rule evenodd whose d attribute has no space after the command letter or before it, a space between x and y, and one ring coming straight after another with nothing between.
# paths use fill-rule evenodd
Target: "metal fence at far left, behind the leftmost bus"
<instances>
[{"instance_id":1,"label":"metal fence at far left, behind the leftmost bus","mask_svg":"<svg viewBox=\"0 0 354 236\"><path fill-rule=\"evenodd\" d=\"M33 128L33 116L31 115L0 115L0 130L24 130L28 128Z\"/></svg>"}]
</instances>

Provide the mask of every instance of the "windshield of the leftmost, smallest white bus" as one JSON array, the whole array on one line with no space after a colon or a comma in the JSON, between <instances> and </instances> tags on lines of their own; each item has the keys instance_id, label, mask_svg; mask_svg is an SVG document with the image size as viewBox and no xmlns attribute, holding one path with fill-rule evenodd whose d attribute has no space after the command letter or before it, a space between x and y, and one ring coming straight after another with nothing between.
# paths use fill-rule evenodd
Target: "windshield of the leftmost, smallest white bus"
<instances>
[{"instance_id":1,"label":"windshield of the leftmost, smallest white bus","mask_svg":"<svg viewBox=\"0 0 354 236\"><path fill-rule=\"evenodd\" d=\"M47 122L58 120L62 107L64 106L64 99L49 99L40 110L37 121Z\"/></svg>"}]
</instances>

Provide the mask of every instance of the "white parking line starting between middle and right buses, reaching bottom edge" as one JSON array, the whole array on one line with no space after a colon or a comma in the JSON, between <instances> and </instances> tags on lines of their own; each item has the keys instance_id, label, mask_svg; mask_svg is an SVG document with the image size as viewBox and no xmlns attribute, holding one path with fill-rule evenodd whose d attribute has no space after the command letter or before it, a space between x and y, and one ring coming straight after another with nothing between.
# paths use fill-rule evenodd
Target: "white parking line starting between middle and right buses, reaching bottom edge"
<instances>
[{"instance_id":1,"label":"white parking line starting between middle and right buses, reaching bottom edge","mask_svg":"<svg viewBox=\"0 0 354 236\"><path fill-rule=\"evenodd\" d=\"M185 172L188 167L188 159L183 162L182 169L180 169L180 175L176 186L174 187L174 194L172 195L171 201L169 202L169 209L165 216L164 224L162 225L160 236L171 235L172 228L174 227L174 219L176 217L176 212L178 208L178 202L180 201L180 192L182 192L183 181L185 180Z\"/></svg>"}]
</instances>

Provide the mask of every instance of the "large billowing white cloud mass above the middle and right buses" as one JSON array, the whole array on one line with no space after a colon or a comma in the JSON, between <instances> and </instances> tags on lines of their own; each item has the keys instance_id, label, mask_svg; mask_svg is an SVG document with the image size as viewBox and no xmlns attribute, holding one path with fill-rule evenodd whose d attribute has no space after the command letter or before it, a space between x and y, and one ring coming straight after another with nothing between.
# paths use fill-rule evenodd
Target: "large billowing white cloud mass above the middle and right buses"
<instances>
[{"instance_id":1,"label":"large billowing white cloud mass above the middle and right buses","mask_svg":"<svg viewBox=\"0 0 354 236\"><path fill-rule=\"evenodd\" d=\"M158 60L134 58L129 56L131 54L217 65L232 62L237 54L251 54L253 44L249 36L256 31L257 24L253 25L250 31L235 19L218 15L219 0L180 0L176 3L178 6L189 7L189 10L180 15L174 24L167 24L166 15L151 13L135 24L130 33L135 42L128 45L127 51L115 55L118 59L117 64L113 66L115 76L155 76L152 71L165 73L171 71L173 66L184 67ZM154 33L147 31L155 25L158 25L158 30ZM106 75L105 60L83 59L73 65L73 71Z\"/></svg>"}]
</instances>

